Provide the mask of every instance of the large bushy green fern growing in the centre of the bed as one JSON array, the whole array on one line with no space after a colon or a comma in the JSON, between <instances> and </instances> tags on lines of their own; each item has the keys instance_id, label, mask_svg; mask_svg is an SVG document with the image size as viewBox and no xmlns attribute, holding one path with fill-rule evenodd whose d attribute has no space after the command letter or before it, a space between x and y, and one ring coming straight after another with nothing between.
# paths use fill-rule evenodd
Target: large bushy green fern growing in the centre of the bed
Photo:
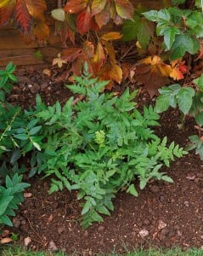
<instances>
[{"instance_id":1,"label":"large bushy green fern growing in the centre of the bed","mask_svg":"<svg viewBox=\"0 0 203 256\"><path fill-rule=\"evenodd\" d=\"M110 215L112 199L119 189L138 195L133 181L139 179L144 189L151 178L172 182L161 172L174 156L186 152L166 137L161 140L150 128L159 125L159 115L149 106L143 113L135 108L133 94L126 90L121 97L100 93L105 83L91 79L87 71L70 90L85 96L82 102L71 97L64 107L42 104L31 114L42 125L42 151L32 154L32 173L44 172L52 178L50 193L64 187L78 191L82 201L82 226L87 228L102 221L101 214ZM28 113L29 114L29 113Z\"/></svg>"}]
</instances>

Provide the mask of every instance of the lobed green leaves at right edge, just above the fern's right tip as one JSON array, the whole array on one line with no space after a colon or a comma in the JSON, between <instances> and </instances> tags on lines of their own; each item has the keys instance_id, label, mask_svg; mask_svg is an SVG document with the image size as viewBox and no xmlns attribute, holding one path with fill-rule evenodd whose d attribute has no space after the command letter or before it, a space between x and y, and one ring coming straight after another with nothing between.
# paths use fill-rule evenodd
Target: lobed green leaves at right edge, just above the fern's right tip
<instances>
[{"instance_id":1,"label":"lobed green leaves at right edge, just above the fern's right tip","mask_svg":"<svg viewBox=\"0 0 203 256\"><path fill-rule=\"evenodd\" d=\"M179 108L183 116L190 115L195 118L198 125L199 136L193 135L189 139L192 144L188 150L194 149L196 154L200 154L203 160L203 140L200 135L201 126L203 125L203 75L193 80L195 88L190 86L182 87L180 84L172 84L159 90L160 96L155 103L155 111L161 113L169 107Z\"/></svg>"}]
</instances>

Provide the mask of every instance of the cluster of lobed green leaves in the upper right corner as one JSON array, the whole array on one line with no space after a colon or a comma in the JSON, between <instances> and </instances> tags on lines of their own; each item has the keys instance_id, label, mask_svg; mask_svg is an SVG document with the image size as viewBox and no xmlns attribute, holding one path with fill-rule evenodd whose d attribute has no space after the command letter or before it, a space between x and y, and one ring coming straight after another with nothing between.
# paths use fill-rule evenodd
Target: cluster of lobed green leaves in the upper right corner
<instances>
[{"instance_id":1,"label":"cluster of lobed green leaves in the upper right corner","mask_svg":"<svg viewBox=\"0 0 203 256\"><path fill-rule=\"evenodd\" d=\"M170 61L183 57L186 52L195 55L200 49L198 38L203 36L203 16L200 10L172 7L150 10L143 15L156 22L156 33L164 38L163 49L170 51Z\"/></svg>"}]
</instances>

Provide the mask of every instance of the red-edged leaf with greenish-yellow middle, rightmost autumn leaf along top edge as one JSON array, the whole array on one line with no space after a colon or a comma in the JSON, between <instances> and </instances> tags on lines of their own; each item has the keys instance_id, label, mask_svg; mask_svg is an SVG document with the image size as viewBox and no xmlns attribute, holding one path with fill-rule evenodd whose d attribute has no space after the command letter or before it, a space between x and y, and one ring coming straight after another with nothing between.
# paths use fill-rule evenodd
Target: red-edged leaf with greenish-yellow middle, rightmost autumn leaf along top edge
<instances>
[{"instance_id":1,"label":"red-edged leaf with greenish-yellow middle, rightmost autumn leaf along top edge","mask_svg":"<svg viewBox=\"0 0 203 256\"><path fill-rule=\"evenodd\" d=\"M133 4L128 0L115 0L116 13L121 16L122 19L132 19L134 14Z\"/></svg>"}]
</instances>

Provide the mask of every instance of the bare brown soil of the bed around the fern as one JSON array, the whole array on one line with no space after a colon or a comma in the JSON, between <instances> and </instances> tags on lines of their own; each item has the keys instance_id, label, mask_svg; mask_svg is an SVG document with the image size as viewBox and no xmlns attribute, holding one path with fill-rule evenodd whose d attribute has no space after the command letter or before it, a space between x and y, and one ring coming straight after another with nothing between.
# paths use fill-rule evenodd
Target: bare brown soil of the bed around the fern
<instances>
[{"instance_id":1,"label":"bare brown soil of the bed around the fern","mask_svg":"<svg viewBox=\"0 0 203 256\"><path fill-rule=\"evenodd\" d=\"M50 71L50 70L49 70ZM64 87L65 73L48 77L42 69L18 72L20 83L14 86L9 101L24 107L34 104L40 93L47 104L57 99L65 102L70 96ZM55 73L55 75L54 75ZM60 79L58 79L60 78ZM147 101L141 94L139 101ZM182 146L195 133L188 119L185 129L178 130L178 113L171 110L161 118L157 133L167 136ZM83 255L118 253L133 247L203 247L203 162L192 152L166 169L174 183L151 182L139 191L138 198L122 191L114 201L115 211L104 217L104 223L93 224L88 230L80 227L81 208L76 193L64 190L48 195L48 180L32 178L25 202L13 219L14 233L20 234L20 243L30 238L32 249L62 249L67 253Z\"/></svg>"}]
</instances>

